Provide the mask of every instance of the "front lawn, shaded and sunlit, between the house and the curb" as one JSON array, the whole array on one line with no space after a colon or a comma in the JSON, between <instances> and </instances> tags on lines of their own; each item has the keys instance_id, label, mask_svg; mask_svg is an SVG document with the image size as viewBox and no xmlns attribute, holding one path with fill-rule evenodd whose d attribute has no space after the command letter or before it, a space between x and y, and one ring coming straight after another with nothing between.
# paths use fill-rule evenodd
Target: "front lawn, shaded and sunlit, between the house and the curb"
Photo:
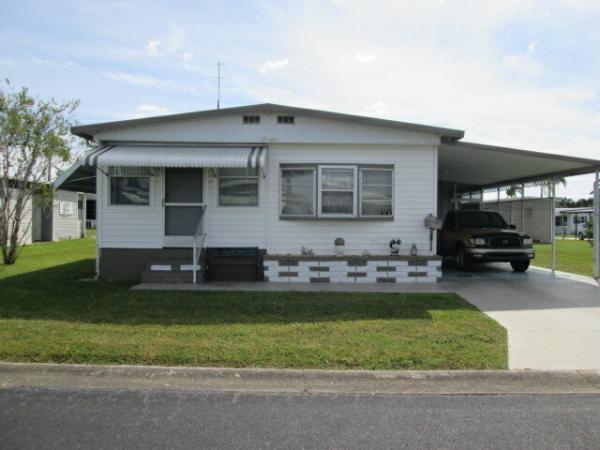
<instances>
[{"instance_id":1,"label":"front lawn, shaded and sunlit, between the house and the curb","mask_svg":"<svg viewBox=\"0 0 600 450\"><path fill-rule=\"evenodd\" d=\"M506 331L454 294L148 292L82 282L94 241L0 265L0 359L328 369L505 369Z\"/></svg>"}]
</instances>

